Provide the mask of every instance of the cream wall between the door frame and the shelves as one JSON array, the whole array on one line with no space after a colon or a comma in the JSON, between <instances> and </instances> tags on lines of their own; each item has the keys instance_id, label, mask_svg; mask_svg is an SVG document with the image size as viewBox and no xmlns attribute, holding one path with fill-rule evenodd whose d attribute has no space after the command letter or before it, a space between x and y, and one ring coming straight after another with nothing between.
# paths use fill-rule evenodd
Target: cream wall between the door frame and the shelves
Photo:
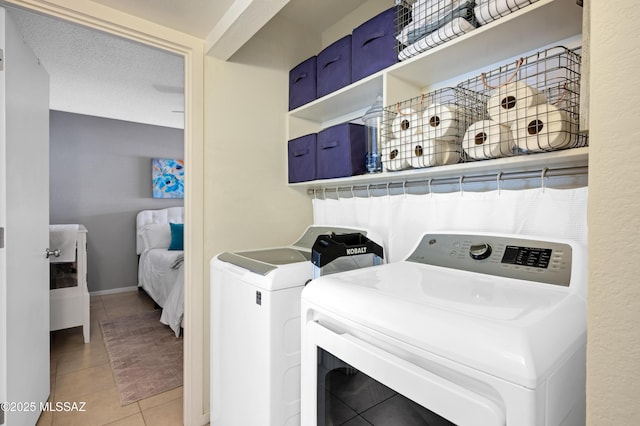
<instances>
[{"instance_id":1,"label":"cream wall between the door frame and the shelves","mask_svg":"<svg viewBox=\"0 0 640 426\"><path fill-rule=\"evenodd\" d=\"M312 221L309 198L287 186L289 70L319 49L301 31L275 18L229 61L206 58L206 262L223 251L290 244ZM208 398L208 365L203 376Z\"/></svg>"}]
</instances>

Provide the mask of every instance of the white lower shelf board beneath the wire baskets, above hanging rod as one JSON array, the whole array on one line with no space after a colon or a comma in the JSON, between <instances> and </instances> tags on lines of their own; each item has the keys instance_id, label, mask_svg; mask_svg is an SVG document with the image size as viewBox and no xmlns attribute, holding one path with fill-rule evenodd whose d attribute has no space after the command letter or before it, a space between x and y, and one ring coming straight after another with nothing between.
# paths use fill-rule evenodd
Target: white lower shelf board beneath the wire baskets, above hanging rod
<instances>
[{"instance_id":1,"label":"white lower shelf board beneath the wire baskets, above hanging rod","mask_svg":"<svg viewBox=\"0 0 640 426\"><path fill-rule=\"evenodd\" d=\"M382 172L336 179L322 179L310 182L291 183L291 188L313 190L322 188L349 188L367 185L415 182L449 177L471 177L499 172L530 172L546 168L570 168L586 166L589 147L572 148L562 151L517 155L493 160L472 161L423 169Z\"/></svg>"}]
</instances>

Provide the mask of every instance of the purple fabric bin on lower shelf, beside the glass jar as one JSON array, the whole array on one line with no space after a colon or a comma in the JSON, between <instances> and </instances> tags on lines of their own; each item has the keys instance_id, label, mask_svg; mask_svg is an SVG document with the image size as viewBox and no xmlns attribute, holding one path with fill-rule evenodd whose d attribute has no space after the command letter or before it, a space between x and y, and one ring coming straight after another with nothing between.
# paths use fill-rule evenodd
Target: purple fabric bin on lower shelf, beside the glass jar
<instances>
[{"instance_id":1,"label":"purple fabric bin on lower shelf, beside the glass jar","mask_svg":"<svg viewBox=\"0 0 640 426\"><path fill-rule=\"evenodd\" d=\"M366 171L367 143L364 126L342 123L318 133L318 179L360 175Z\"/></svg>"}]
</instances>

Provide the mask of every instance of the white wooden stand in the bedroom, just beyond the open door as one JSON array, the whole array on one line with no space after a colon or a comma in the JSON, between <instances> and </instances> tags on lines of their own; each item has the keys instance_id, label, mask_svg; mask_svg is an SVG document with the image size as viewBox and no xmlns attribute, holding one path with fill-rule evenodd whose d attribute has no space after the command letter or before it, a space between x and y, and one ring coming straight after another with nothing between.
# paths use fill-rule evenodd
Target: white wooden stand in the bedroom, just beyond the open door
<instances>
[{"instance_id":1,"label":"white wooden stand in the bedroom, just beyond the open door","mask_svg":"<svg viewBox=\"0 0 640 426\"><path fill-rule=\"evenodd\" d=\"M87 228L79 225L75 262L52 263L49 290L50 330L82 326L84 342L91 335L87 288Z\"/></svg>"}]
</instances>

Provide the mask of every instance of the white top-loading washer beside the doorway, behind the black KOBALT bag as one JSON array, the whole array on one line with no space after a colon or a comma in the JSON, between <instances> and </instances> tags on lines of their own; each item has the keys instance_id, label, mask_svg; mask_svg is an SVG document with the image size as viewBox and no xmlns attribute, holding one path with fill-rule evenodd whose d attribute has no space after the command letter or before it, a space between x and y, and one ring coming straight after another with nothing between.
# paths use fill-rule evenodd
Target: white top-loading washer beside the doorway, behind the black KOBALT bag
<instances>
[{"instance_id":1,"label":"white top-loading washer beside the doorway, behind the black KOBALT bag","mask_svg":"<svg viewBox=\"0 0 640 426\"><path fill-rule=\"evenodd\" d=\"M211 425L300 424L300 293L316 238L331 233L371 238L311 226L291 246L211 260Z\"/></svg>"}]
</instances>

